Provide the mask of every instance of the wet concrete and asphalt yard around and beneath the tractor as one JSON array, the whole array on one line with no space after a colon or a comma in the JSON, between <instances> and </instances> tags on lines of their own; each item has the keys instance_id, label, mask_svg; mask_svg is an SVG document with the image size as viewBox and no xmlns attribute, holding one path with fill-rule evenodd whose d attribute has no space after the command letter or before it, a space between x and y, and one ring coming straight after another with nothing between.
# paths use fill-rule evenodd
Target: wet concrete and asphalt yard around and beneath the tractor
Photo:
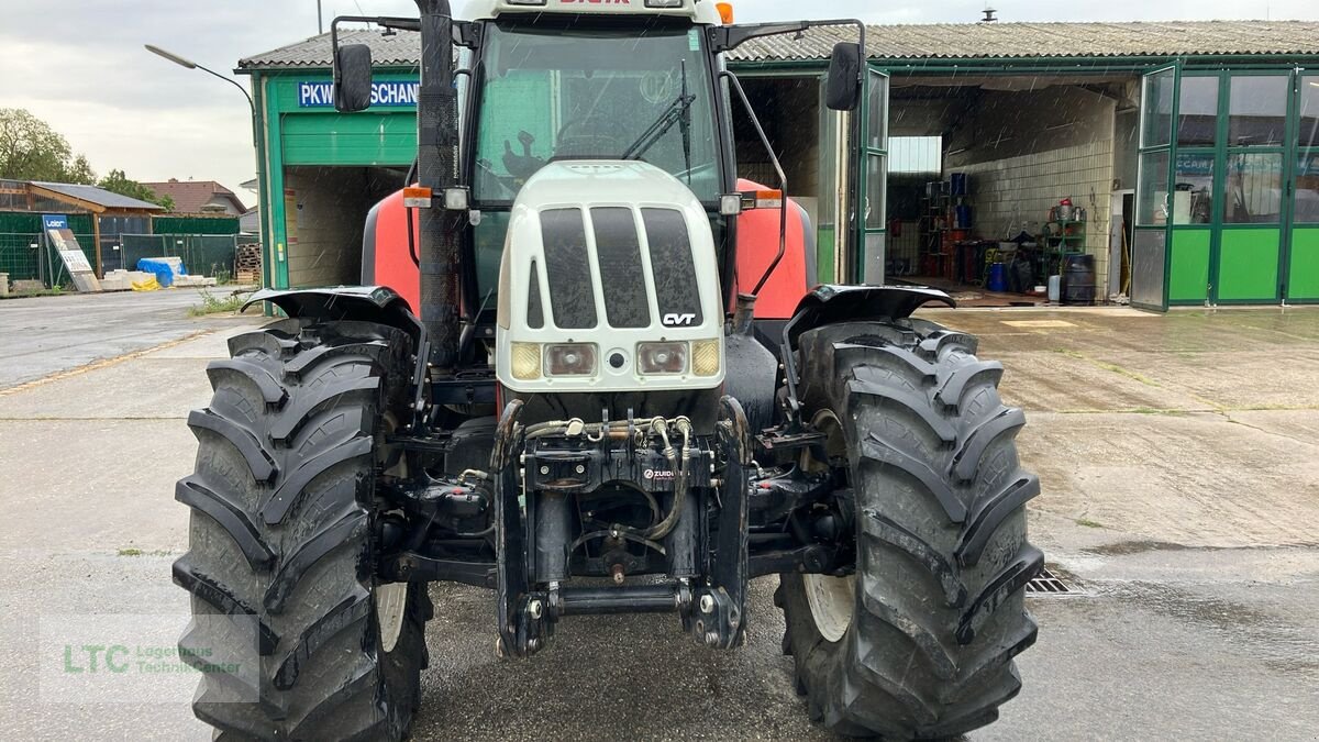
<instances>
[{"instance_id":1,"label":"wet concrete and asphalt yard around and beneath the tractor","mask_svg":"<svg viewBox=\"0 0 1319 742\"><path fill-rule=\"evenodd\" d=\"M1004 362L1004 396L1030 421L1022 458L1045 483L1031 537L1078 589L1029 598L1041 634L1018 661L1025 689L969 738L1314 739L1319 310L929 314ZM206 403L207 359L257 321L216 322L0 392L0 738L210 738L182 700L191 677L88 704L42 684L59 659L33 647L70 614L186 623L169 580L187 518L173 482L195 450L183 419ZM94 327L65 342L95 342ZM489 593L435 586L414 737L826 739L780 655L773 586L753 585L736 652L696 647L669 617L586 617L529 661L495 659Z\"/></svg>"}]
</instances>

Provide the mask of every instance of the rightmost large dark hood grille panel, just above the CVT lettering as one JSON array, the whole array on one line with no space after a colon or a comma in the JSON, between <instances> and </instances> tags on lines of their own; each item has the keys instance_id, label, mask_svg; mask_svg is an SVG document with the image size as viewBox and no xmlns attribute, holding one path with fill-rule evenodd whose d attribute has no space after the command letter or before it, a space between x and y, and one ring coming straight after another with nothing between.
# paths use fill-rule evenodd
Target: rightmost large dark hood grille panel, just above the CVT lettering
<instances>
[{"instance_id":1,"label":"rightmost large dark hood grille panel, just above the CVT lettering","mask_svg":"<svg viewBox=\"0 0 1319 742\"><path fill-rule=\"evenodd\" d=\"M704 320L687 220L674 209L642 209L641 219L650 243L650 272L654 275L656 301L663 325L700 325Z\"/></svg>"}]
</instances>

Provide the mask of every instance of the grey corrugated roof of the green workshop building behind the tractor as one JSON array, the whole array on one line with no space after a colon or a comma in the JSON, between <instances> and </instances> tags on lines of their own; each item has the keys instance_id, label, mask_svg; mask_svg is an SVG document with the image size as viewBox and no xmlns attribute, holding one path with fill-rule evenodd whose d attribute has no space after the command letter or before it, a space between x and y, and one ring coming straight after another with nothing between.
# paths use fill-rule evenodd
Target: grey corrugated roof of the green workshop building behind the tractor
<instances>
[{"instance_id":1,"label":"grey corrugated roof of the green workshop building behind the tractor","mask_svg":"<svg viewBox=\"0 0 1319 742\"><path fill-rule=\"evenodd\" d=\"M342 42L367 44L377 66L418 63L415 32L381 36L344 30ZM736 49L740 62L823 59L834 44L855 40L851 26L757 38ZM992 22L872 25L872 59L995 59L1076 57L1319 55L1316 21ZM240 70L330 67L330 34L314 36L239 61Z\"/></svg>"}]
</instances>

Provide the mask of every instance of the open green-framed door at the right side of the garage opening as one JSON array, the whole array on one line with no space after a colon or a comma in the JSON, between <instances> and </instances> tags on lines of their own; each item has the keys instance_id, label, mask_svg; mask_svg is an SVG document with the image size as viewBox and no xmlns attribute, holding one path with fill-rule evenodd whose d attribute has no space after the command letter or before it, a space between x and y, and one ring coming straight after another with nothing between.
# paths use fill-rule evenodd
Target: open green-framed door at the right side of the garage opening
<instances>
[{"instance_id":1,"label":"open green-framed door at the right side of the garage opening","mask_svg":"<svg viewBox=\"0 0 1319 742\"><path fill-rule=\"evenodd\" d=\"M1148 87L1150 81L1155 79L1158 75L1166 75L1171 73L1171 100L1169 102L1169 120L1167 131L1165 136L1167 141L1146 141L1146 118L1158 115L1158 102L1153 107L1148 106ZM1182 88L1182 59L1174 59L1170 65L1163 65L1161 67L1151 69L1141 75L1141 115L1137 123L1137 176L1136 176L1136 226L1133 228L1134 238L1132 239L1132 306L1138 309L1151 309L1157 312L1167 312L1167 298L1169 298L1169 280L1173 264L1173 189L1175 186L1173 173L1177 168L1177 120L1178 120L1178 103L1181 99ZM1151 110L1153 108L1153 110ZM1148 160L1158 158L1165 156L1167 158L1166 168L1163 169L1163 177L1159 180L1158 173L1151 173L1155 178L1149 181L1146 178L1145 168ZM1142 191L1150 184L1163 184L1163 223L1159 224L1154 219L1148 219L1146 223L1145 214L1142 213ZM1158 205L1154 205L1158 209ZM1159 280L1154 280L1154 287L1158 292L1158 301L1138 301L1136 294L1137 285L1137 267L1142 264L1140 256L1136 255L1137 250L1141 250L1141 235L1161 236L1163 244L1163 272ZM1153 263L1158 263L1158 256L1154 256ZM1144 292L1142 292L1144 293Z\"/></svg>"}]
</instances>

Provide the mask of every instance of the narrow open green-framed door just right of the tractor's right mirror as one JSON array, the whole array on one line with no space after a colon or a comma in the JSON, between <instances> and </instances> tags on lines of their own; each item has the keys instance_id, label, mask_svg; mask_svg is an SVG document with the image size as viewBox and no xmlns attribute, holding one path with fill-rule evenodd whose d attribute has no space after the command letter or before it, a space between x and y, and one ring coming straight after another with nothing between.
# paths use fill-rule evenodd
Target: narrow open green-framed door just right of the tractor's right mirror
<instances>
[{"instance_id":1,"label":"narrow open green-framed door just right of the tractor's right mirror","mask_svg":"<svg viewBox=\"0 0 1319 742\"><path fill-rule=\"evenodd\" d=\"M877 100L874 98L876 91ZM856 143L856 260L852 263L852 284L882 284L885 276L885 256L888 243L888 161L889 161L889 74L884 67L867 65L865 84L861 91L861 125L857 127L860 141ZM878 147L874 147L878 144ZM872 170L872 168L877 169ZM872 185L877 178L881 184L876 203L871 203ZM878 243L878 255L873 256L868 247L872 240Z\"/></svg>"}]
</instances>

